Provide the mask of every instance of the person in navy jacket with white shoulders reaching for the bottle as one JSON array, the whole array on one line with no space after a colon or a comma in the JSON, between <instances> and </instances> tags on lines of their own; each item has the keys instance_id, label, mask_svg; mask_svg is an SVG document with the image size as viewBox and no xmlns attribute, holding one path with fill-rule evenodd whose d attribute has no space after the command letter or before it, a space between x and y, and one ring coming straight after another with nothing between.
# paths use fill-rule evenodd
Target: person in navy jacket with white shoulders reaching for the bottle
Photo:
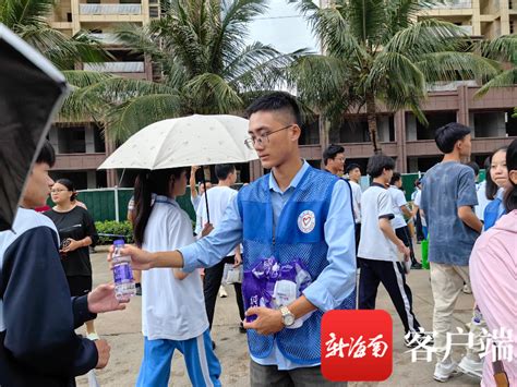
<instances>
[{"instance_id":1,"label":"person in navy jacket with white shoulders reaching for the bottle","mask_svg":"<svg viewBox=\"0 0 517 387\"><path fill-rule=\"evenodd\" d=\"M0 232L0 385L4 387L74 386L75 376L104 368L110 353L107 341L82 338L74 329L97 313L125 307L112 285L70 297L56 226L34 210L50 194L49 169L55 161L47 141L28 174L12 229Z\"/></svg>"}]
</instances>

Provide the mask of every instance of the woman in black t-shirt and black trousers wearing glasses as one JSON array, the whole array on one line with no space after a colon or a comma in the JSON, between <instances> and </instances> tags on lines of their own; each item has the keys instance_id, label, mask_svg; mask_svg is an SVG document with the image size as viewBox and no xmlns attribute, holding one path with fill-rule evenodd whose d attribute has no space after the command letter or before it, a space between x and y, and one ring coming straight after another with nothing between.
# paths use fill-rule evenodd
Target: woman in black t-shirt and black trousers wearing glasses
<instances>
[{"instance_id":1,"label":"woman in black t-shirt and black trousers wearing glasses","mask_svg":"<svg viewBox=\"0 0 517 387\"><path fill-rule=\"evenodd\" d=\"M76 203L76 192L69 179L59 179L50 190L55 203L45 213L59 232L61 264L69 281L70 294L80 297L92 291L92 263L88 246L97 242L95 222L89 213ZM98 339L93 321L86 322L87 338Z\"/></svg>"}]
</instances>

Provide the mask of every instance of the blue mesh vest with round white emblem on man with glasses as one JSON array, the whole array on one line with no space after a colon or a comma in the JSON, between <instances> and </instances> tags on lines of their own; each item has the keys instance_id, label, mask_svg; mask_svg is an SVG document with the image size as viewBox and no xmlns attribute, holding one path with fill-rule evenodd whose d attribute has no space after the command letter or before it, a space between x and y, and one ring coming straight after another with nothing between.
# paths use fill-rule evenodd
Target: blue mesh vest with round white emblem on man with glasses
<instances>
[{"instance_id":1,"label":"blue mesh vest with round white emblem on man with glasses","mask_svg":"<svg viewBox=\"0 0 517 387\"><path fill-rule=\"evenodd\" d=\"M253 269L262 259L270 256L280 265L298 258L305 265L314 282L328 265L324 225L337 181L332 173L310 167L284 206L274 238L269 174L242 188L238 206L243 223L244 270ZM310 221L303 223L303 214L310 214L308 211L314 214L314 225ZM305 220L310 219L305 217ZM243 292L245 287L243 281ZM339 309L354 307L356 292L352 292ZM263 336L248 329L250 352L257 359L267 358L276 339L278 349L290 361L298 364L317 363L321 361L322 316L323 312L316 310L300 328L285 328L275 335Z\"/></svg>"}]
</instances>

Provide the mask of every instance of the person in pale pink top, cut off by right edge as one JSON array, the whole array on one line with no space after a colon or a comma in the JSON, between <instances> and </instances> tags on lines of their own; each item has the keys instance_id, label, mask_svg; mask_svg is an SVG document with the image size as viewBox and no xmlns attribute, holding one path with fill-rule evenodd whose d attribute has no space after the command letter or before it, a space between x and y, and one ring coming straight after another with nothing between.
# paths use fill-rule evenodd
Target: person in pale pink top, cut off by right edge
<instances>
[{"instance_id":1,"label":"person in pale pink top, cut off by right edge","mask_svg":"<svg viewBox=\"0 0 517 387\"><path fill-rule=\"evenodd\" d=\"M472 291L493 336L483 365L481 385L485 387L502 386L495 377L506 378L509 386L517 384L517 140L506 150L506 167L508 183L503 197L506 215L478 238L470 255ZM512 328L514 334L508 337ZM500 350L505 346L506 351L513 351L513 361L501 355L494 361L494 344L500 344Z\"/></svg>"}]
</instances>

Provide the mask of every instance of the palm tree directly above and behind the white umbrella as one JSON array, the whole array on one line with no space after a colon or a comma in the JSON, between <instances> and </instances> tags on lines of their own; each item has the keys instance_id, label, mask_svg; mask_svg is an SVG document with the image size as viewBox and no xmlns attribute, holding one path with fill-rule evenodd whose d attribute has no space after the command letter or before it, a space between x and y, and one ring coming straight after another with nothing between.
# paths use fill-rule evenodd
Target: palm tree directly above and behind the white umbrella
<instances>
[{"instance_id":1,"label":"palm tree directly above and behind the white umbrella","mask_svg":"<svg viewBox=\"0 0 517 387\"><path fill-rule=\"evenodd\" d=\"M119 38L152 59L159 83L95 74L83 76L63 109L101 121L123 142L157 120L192 113L238 113L257 93L281 82L285 69L303 53L284 55L261 43L247 45L253 17L267 0L172 0L148 26L127 26ZM84 107L88 110L85 111Z\"/></svg>"}]
</instances>

